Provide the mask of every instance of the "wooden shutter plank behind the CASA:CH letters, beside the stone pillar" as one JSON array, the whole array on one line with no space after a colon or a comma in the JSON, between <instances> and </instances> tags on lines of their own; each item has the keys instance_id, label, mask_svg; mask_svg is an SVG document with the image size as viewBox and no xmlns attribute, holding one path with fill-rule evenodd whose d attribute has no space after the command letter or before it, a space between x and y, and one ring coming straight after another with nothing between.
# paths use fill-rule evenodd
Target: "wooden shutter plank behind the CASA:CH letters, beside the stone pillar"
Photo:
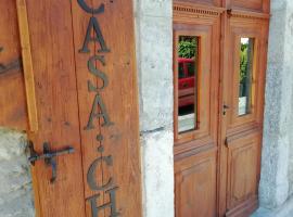
<instances>
[{"instance_id":1,"label":"wooden shutter plank behind the CASA:CH letters, beside the stone pillar","mask_svg":"<svg viewBox=\"0 0 293 217\"><path fill-rule=\"evenodd\" d=\"M90 1L88 1L90 2ZM92 1L89 5L99 5L101 1ZM77 86L79 99L79 118L82 145L82 165L86 197L100 193L99 205L110 202L104 191L93 191L87 183L87 173L91 163L101 156L112 156L113 166L105 164L97 169L99 184L104 184L110 178L113 187L117 186L116 206L122 216L141 216L141 171L139 157L139 125L138 125L138 87L136 77L135 35L132 1L117 0L105 2L104 13L89 14L73 2L73 24L75 38L75 56ZM90 42L89 53L80 53L86 29L90 17L94 16L101 27L101 33L110 52L98 52L100 44ZM119 34L113 34L113 33ZM91 33L94 36L94 33ZM103 118L94 119L94 129L85 130L89 120L95 92L88 91L88 80L101 87L101 78L90 74L88 60L93 55L103 55L105 64L95 61L95 67L106 74L109 86L99 91L114 125L103 127ZM97 141L102 135L103 141ZM98 153L102 145L104 152ZM87 216L90 216L90 204L86 203ZM110 209L101 213L109 216Z\"/></svg>"}]
</instances>

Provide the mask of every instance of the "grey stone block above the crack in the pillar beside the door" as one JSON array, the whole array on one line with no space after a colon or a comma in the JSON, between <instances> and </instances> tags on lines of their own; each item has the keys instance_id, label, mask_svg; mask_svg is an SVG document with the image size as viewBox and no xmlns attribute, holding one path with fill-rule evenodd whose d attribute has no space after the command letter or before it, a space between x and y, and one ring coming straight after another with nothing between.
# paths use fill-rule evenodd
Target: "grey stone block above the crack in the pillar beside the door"
<instances>
[{"instance_id":1,"label":"grey stone block above the crack in the pillar beside the door","mask_svg":"<svg viewBox=\"0 0 293 217\"><path fill-rule=\"evenodd\" d=\"M173 125L171 20L142 16L137 23L140 129Z\"/></svg>"}]
</instances>

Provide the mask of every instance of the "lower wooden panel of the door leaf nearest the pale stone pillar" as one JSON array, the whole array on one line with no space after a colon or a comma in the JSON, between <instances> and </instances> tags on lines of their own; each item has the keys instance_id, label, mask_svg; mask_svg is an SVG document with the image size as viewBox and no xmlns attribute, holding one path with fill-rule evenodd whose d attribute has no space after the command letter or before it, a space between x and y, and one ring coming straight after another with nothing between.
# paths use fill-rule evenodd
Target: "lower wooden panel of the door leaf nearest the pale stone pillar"
<instances>
[{"instance_id":1,"label":"lower wooden panel of the door leaf nearest the pale stone pillar","mask_svg":"<svg viewBox=\"0 0 293 217\"><path fill-rule=\"evenodd\" d=\"M177 161L176 216L216 215L216 149Z\"/></svg>"}]
</instances>

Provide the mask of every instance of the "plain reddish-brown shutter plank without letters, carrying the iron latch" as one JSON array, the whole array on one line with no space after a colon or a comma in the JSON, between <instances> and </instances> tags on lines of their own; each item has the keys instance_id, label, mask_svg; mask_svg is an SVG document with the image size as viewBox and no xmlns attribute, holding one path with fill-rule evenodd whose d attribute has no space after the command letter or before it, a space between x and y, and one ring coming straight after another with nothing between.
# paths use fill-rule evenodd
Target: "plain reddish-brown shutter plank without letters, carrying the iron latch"
<instances>
[{"instance_id":1,"label":"plain reddish-brown shutter plank without letters, carrying the iron latch","mask_svg":"<svg viewBox=\"0 0 293 217\"><path fill-rule=\"evenodd\" d=\"M69 1L27 1L39 130L29 133L35 149L43 142L75 153L56 158L58 179L42 161L33 169L38 216L85 216L77 87Z\"/></svg>"}]
</instances>

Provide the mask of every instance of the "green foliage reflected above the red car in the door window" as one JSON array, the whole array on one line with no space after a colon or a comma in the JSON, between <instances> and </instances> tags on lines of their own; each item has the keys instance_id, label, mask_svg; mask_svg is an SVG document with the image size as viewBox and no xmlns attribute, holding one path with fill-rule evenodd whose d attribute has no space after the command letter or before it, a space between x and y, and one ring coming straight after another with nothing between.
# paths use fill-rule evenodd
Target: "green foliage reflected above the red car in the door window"
<instances>
[{"instance_id":1,"label":"green foliage reflected above the red car in the door window","mask_svg":"<svg viewBox=\"0 0 293 217\"><path fill-rule=\"evenodd\" d=\"M198 50L198 40L195 37L180 37L179 58L192 59Z\"/></svg>"}]
</instances>

